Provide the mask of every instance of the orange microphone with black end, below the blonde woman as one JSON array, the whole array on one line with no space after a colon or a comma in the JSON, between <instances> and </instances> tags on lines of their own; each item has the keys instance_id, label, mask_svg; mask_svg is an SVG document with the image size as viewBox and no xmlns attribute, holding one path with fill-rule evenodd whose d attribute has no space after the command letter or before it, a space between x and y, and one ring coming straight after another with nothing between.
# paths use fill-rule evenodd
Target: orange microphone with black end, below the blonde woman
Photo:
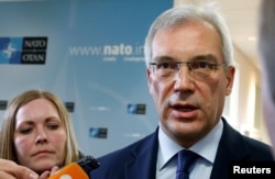
<instances>
[{"instance_id":1,"label":"orange microphone with black end, below the blonde woman","mask_svg":"<svg viewBox=\"0 0 275 179\"><path fill-rule=\"evenodd\" d=\"M100 166L99 161L92 156L86 156L77 163L70 163L48 179L89 179L91 170Z\"/></svg>"}]
</instances>

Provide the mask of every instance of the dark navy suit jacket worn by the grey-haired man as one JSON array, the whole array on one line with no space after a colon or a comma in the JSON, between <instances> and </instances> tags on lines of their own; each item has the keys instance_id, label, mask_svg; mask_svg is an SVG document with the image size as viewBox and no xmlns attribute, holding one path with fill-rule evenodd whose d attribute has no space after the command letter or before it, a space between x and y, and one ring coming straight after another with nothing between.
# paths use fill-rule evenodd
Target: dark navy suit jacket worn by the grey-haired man
<instances>
[{"instance_id":1,"label":"dark navy suit jacket worn by the grey-haired man","mask_svg":"<svg viewBox=\"0 0 275 179\"><path fill-rule=\"evenodd\" d=\"M273 160L270 146L245 137L226 120L210 179L227 179L230 161ZM145 138L99 158L91 179L155 179L158 128Z\"/></svg>"}]
</instances>

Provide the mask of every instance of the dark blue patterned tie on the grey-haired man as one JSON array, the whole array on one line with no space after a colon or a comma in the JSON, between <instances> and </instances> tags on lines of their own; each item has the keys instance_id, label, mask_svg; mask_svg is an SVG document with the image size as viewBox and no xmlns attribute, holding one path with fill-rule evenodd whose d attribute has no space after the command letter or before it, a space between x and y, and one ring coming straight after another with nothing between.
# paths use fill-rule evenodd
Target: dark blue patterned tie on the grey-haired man
<instances>
[{"instance_id":1,"label":"dark blue patterned tie on the grey-haired man","mask_svg":"<svg viewBox=\"0 0 275 179\"><path fill-rule=\"evenodd\" d=\"M191 150L183 149L177 154L176 179L189 179L189 168L195 164L198 155Z\"/></svg>"}]
</instances>

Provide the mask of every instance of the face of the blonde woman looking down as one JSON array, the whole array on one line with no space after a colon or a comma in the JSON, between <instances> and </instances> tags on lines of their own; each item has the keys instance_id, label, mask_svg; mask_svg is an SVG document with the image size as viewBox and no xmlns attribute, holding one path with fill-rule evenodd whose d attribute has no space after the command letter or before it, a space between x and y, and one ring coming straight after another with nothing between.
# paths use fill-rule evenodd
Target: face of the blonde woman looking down
<instances>
[{"instance_id":1,"label":"face of the blonde woman looking down","mask_svg":"<svg viewBox=\"0 0 275 179\"><path fill-rule=\"evenodd\" d=\"M36 172L63 165L66 132L52 102L35 99L21 107L15 119L13 139L20 165Z\"/></svg>"}]
</instances>

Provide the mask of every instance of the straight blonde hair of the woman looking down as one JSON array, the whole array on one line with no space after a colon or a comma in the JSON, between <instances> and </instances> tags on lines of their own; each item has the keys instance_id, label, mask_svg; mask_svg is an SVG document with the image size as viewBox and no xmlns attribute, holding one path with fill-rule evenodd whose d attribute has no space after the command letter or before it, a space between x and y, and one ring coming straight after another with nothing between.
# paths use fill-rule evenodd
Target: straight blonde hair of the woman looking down
<instances>
[{"instance_id":1,"label":"straight blonde hair of the woman looking down","mask_svg":"<svg viewBox=\"0 0 275 179\"><path fill-rule=\"evenodd\" d=\"M64 166L79 159L79 150L77 147L76 136L70 121L69 113L64 103L52 92L29 90L15 97L8 105L4 119L0 128L0 158L9 159L18 163L15 146L13 144L13 135L16 122L18 110L30 101L36 99L46 99L54 104L67 136L65 146Z\"/></svg>"}]
</instances>

